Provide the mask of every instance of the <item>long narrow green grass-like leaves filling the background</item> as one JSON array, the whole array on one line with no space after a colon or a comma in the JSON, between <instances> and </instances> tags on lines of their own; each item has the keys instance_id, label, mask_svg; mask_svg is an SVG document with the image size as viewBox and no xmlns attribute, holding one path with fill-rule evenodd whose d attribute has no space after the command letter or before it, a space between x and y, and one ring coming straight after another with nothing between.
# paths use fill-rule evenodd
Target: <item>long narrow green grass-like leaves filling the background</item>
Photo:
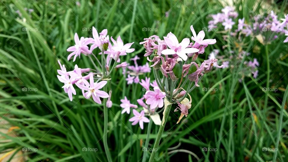
<instances>
[{"instance_id":1,"label":"long narrow green grass-like leaves filling the background","mask_svg":"<svg viewBox=\"0 0 288 162\"><path fill-rule=\"evenodd\" d=\"M22 151L25 147L38 149L24 152L28 161L107 161L102 140L103 106L82 95L73 96L70 102L56 77L58 59L67 70L73 69L74 64L93 68L84 55L74 63L67 61L66 49L73 45L74 33L88 37L91 31L85 28L108 29L113 38L121 35L124 42L135 42L132 46L135 52L121 58L123 61L135 55L143 58L144 48L139 42L144 38L153 34L162 37L170 31L179 39L189 38L190 25L196 31L202 30L208 26L208 15L222 8L217 1L208 0L81 0L80 3L77 7L75 2L61 0L0 2L0 114L1 120L19 127L10 134L0 132L1 153L9 149ZM239 17L246 19L265 11L261 3L253 0L237 1L235 6L237 11L239 6L243 8L238 11ZM286 6L282 6L271 4L271 9L283 17ZM34 12L29 15L25 7L33 8ZM21 11L25 20L16 10ZM166 17L168 10L170 14ZM143 28L155 28L157 32L146 32ZM235 49L233 38L228 43L223 40L223 33L205 34L206 38L215 38L217 44L208 46L199 56L200 61L207 59L212 49L220 49L220 55L224 55L223 45ZM284 39L279 37L267 49L256 39L243 40L243 50L251 52L251 57L260 63L256 79L246 77L238 82L239 72L245 66L242 61L235 68L205 74L200 87L190 93L192 107L183 122L176 124L179 113L174 113L176 105L172 106L155 160L173 161L181 157L185 161L197 161L196 155L200 161L288 161L288 48L282 43ZM146 63L146 58L142 60ZM267 82L267 63L270 82ZM119 104L124 96L136 104L144 92L140 85L126 85L121 70L112 76L109 87L113 89L113 107L108 110L110 153L113 161L142 161L148 124L144 130L132 126L128 122L131 115L120 114ZM148 76L154 78L152 73ZM262 91L267 85L278 91ZM23 87L37 88L37 91L22 91ZM217 88L217 91L202 91L203 87ZM9 129L7 125L1 128ZM159 126L152 124L149 148L153 148L158 129ZM84 152L84 147L98 150ZM278 151L264 152L264 147ZM204 152L202 148L214 148L217 152Z\"/></svg>"}]
</instances>

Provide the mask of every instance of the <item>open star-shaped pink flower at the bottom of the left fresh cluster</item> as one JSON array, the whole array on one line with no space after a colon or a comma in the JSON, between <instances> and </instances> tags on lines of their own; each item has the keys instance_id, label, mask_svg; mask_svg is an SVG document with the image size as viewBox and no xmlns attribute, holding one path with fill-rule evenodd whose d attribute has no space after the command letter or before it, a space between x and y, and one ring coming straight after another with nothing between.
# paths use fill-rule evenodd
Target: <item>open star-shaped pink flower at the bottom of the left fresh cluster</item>
<instances>
[{"instance_id":1,"label":"open star-shaped pink flower at the bottom of the left fresh cluster","mask_svg":"<svg viewBox=\"0 0 288 162\"><path fill-rule=\"evenodd\" d=\"M95 83L93 76L90 75L90 86L84 86L78 83L75 83L79 88L84 89L85 91L85 98L90 98L92 96L93 100L97 103L97 104L101 104L101 98L108 98L109 95L105 92L105 91L101 91L99 89L103 88L106 84L107 81L101 81L99 83Z\"/></svg>"}]
</instances>

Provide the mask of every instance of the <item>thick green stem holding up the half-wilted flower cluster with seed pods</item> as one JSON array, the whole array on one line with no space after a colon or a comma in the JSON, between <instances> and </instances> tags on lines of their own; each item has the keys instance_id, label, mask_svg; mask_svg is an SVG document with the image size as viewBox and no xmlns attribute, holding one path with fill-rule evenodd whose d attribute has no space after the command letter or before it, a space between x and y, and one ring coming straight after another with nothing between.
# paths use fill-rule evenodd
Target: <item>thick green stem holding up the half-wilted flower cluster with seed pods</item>
<instances>
[{"instance_id":1,"label":"thick green stem holding up the half-wilted flower cluster with seed pods","mask_svg":"<svg viewBox=\"0 0 288 162\"><path fill-rule=\"evenodd\" d=\"M153 147L149 162L153 162L154 161L154 158L155 158L156 152L158 150L158 146L159 146L160 140L162 138L164 127L166 125L166 122L167 122L167 119L168 119L168 116L169 116L169 113L170 113L171 106L172 106L172 104L168 105L166 110L164 110L164 112L163 112L164 116L163 116L159 131L158 131L158 134L157 134L157 137L156 137L156 140L155 140L155 144L154 144L154 147ZM162 123L163 123L163 125L162 125Z\"/></svg>"}]
</instances>

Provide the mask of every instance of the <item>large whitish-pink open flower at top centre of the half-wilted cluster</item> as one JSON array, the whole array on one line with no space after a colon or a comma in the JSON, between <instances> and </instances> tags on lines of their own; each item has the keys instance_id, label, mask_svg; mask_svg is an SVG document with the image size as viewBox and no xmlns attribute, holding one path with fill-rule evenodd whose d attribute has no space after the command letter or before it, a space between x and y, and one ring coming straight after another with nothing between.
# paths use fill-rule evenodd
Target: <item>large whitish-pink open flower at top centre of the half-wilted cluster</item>
<instances>
[{"instance_id":1,"label":"large whitish-pink open flower at top centre of the half-wilted cluster","mask_svg":"<svg viewBox=\"0 0 288 162\"><path fill-rule=\"evenodd\" d=\"M173 55L177 54L184 61L187 60L186 53L195 53L198 52L199 49L196 48L187 48L190 43L188 38L184 38L181 43L178 42L178 39L173 33L168 33L167 37L163 37L165 43L170 49L164 49L161 53L164 55Z\"/></svg>"}]
</instances>

